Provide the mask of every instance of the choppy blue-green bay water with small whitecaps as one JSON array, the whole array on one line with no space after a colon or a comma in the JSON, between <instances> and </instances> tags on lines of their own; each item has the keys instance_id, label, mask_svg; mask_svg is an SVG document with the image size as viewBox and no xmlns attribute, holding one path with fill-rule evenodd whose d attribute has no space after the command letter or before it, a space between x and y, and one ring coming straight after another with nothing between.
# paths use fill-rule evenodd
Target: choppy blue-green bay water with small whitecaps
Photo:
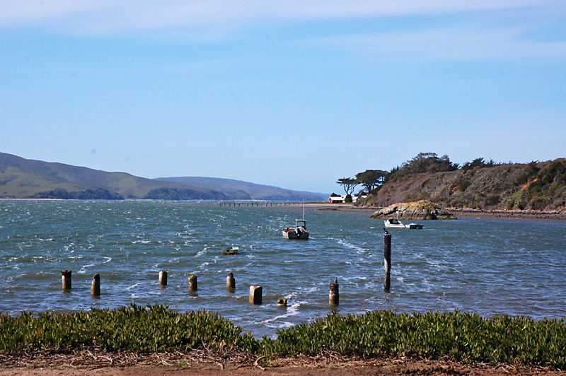
<instances>
[{"instance_id":1,"label":"choppy blue-green bay water with small whitecaps","mask_svg":"<svg viewBox=\"0 0 566 376\"><path fill-rule=\"evenodd\" d=\"M178 201L0 201L0 311L69 312L165 304L220 312L254 336L337 311L461 310L566 316L566 221L461 217L392 233L383 291L383 221L305 207L311 238L284 240L300 206ZM237 255L221 249L240 247ZM62 290L61 271L72 271ZM168 286L158 273L168 271ZM229 272L236 292L226 291ZM100 274L102 294L91 298ZM198 291L187 279L197 275ZM340 305L328 305L329 283ZM263 304L250 305L250 285ZM277 299L288 298L287 307Z\"/></svg>"}]
</instances>

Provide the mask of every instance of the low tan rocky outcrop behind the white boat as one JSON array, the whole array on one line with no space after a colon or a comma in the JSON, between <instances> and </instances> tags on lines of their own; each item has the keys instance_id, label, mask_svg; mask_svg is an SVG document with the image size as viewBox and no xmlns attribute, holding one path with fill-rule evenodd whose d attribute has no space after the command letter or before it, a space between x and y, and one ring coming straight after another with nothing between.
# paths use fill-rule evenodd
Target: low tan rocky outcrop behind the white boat
<instances>
[{"instance_id":1,"label":"low tan rocky outcrop behind the white boat","mask_svg":"<svg viewBox=\"0 0 566 376\"><path fill-rule=\"evenodd\" d=\"M381 208L371 218L456 219L454 214L427 200L403 202Z\"/></svg>"}]
</instances>

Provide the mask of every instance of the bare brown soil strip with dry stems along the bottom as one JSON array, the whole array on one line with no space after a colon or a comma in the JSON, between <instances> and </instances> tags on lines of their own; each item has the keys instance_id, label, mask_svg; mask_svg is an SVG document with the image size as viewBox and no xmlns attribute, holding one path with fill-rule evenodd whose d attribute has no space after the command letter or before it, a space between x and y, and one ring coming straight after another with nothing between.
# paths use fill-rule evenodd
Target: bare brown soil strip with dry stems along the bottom
<instances>
[{"instance_id":1,"label":"bare brown soil strip with dry stems along the bottom","mask_svg":"<svg viewBox=\"0 0 566 376\"><path fill-rule=\"evenodd\" d=\"M450 360L361 359L324 354L316 357L250 358L233 351L224 356L209 351L188 353L108 353L83 348L67 353L0 355L0 375L427 375L427 376L566 376L565 371L516 365L466 365Z\"/></svg>"}]
</instances>

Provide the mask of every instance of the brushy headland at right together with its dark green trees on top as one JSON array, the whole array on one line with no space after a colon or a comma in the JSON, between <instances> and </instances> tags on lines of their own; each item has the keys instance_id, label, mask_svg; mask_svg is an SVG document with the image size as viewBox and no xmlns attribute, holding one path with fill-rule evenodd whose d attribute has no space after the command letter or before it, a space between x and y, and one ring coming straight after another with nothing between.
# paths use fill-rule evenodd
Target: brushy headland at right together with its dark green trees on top
<instances>
[{"instance_id":1,"label":"brushy headland at right together with its dark green trees on top","mask_svg":"<svg viewBox=\"0 0 566 376\"><path fill-rule=\"evenodd\" d=\"M565 211L566 159L497 163L476 158L451 162L448 155L419 153L391 170L365 170L337 180L357 204L388 206L428 200L453 208Z\"/></svg>"}]
</instances>

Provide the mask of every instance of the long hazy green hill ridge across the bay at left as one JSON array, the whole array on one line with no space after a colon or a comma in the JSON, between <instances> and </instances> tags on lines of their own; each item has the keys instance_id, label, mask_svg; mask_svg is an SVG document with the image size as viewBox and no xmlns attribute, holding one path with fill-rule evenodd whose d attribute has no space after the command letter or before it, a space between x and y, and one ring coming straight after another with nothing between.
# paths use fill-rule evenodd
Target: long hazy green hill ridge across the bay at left
<instances>
[{"instance_id":1,"label":"long hazy green hill ridge across the bay at left","mask_svg":"<svg viewBox=\"0 0 566 376\"><path fill-rule=\"evenodd\" d=\"M242 189L244 187L251 193ZM326 199L323 194L236 180L200 177L146 179L126 172L105 172L0 153L0 198L4 199L262 199L258 197L269 197L273 201Z\"/></svg>"}]
</instances>

